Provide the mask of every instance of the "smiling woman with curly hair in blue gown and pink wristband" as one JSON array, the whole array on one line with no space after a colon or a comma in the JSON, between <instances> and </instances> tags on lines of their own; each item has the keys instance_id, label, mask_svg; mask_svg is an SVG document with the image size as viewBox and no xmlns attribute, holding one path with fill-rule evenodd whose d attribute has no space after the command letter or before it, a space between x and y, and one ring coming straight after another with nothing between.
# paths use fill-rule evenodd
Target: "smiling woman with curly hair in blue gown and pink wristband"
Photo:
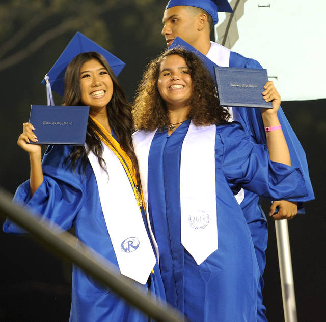
<instances>
[{"instance_id":1,"label":"smiling woman with curly hair in blue gown and pink wristband","mask_svg":"<svg viewBox=\"0 0 326 322\"><path fill-rule=\"evenodd\" d=\"M167 300L191 321L255 321L258 264L234 198L241 187L269 199L306 194L279 126L280 95L263 98L267 147L220 107L199 58L171 49L153 60L135 99L133 135Z\"/></svg>"}]
</instances>

